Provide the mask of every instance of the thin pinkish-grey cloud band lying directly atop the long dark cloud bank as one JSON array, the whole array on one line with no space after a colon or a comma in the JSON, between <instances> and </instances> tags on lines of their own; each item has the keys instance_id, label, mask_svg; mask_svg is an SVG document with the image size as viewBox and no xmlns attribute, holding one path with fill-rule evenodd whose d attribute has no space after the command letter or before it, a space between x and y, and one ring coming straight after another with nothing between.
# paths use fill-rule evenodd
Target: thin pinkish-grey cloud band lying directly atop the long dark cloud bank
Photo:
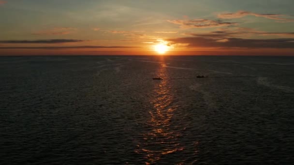
<instances>
[{"instance_id":1,"label":"thin pinkish-grey cloud band lying directly atop the long dark cloud bank","mask_svg":"<svg viewBox=\"0 0 294 165\"><path fill-rule=\"evenodd\" d=\"M208 33L186 33L185 35L192 35L194 37L226 39L226 38L248 38L252 36L279 36L286 38L294 38L294 32L265 32L258 31L253 28L221 28L217 31Z\"/></svg>"}]
</instances>

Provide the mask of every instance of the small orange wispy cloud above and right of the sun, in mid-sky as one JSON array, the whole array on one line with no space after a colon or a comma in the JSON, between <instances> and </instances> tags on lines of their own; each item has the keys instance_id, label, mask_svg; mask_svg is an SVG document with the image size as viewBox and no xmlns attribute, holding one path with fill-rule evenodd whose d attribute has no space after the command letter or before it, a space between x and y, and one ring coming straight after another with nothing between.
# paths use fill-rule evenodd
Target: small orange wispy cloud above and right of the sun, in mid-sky
<instances>
[{"instance_id":1,"label":"small orange wispy cloud above and right of the sun, in mid-sky","mask_svg":"<svg viewBox=\"0 0 294 165\"><path fill-rule=\"evenodd\" d=\"M193 20L167 20L170 23L180 25L180 28L212 28L237 25L235 22L223 22L222 20L193 19Z\"/></svg>"}]
</instances>

